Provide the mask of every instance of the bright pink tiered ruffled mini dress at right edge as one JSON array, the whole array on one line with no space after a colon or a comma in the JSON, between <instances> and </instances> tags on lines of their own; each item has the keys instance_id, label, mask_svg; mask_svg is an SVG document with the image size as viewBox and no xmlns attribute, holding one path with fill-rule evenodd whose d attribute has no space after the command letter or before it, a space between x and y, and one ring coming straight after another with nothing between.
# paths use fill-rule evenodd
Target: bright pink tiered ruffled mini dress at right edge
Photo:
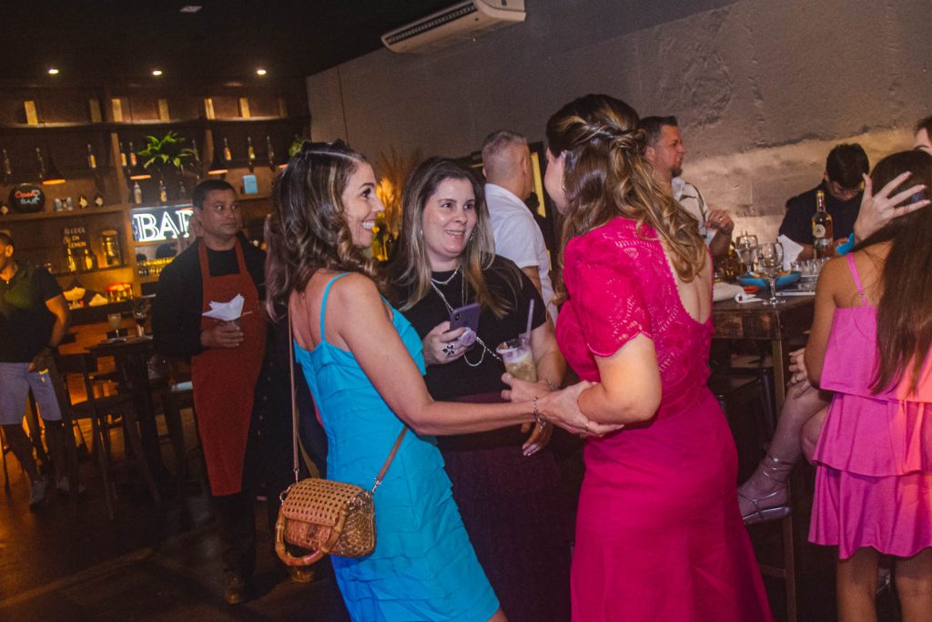
<instances>
[{"instance_id":1,"label":"bright pink tiered ruffled mini dress at right edge","mask_svg":"<svg viewBox=\"0 0 932 622\"><path fill-rule=\"evenodd\" d=\"M809 540L847 559L872 546L910 557L932 546L932 367L880 394L877 309L867 304L854 257L859 307L836 309L820 385L835 392L816 445L816 499Z\"/></svg>"}]
</instances>

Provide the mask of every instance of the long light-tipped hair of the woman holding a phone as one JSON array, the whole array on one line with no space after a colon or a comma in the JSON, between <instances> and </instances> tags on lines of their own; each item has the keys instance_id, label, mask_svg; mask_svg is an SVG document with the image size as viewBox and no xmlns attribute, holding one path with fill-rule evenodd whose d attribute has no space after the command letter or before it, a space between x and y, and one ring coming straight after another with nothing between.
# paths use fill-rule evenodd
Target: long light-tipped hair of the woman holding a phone
<instances>
[{"instance_id":1,"label":"long light-tipped hair of the woman holding a phone","mask_svg":"<svg viewBox=\"0 0 932 622\"><path fill-rule=\"evenodd\" d=\"M423 231L424 209L437 187L447 179L465 179L472 185L475 195L475 227L459 256L459 268L463 271L463 279L475 293L477 302L492 311L496 317L503 317L505 313L513 310L514 302L497 297L483 276L483 270L490 269L495 259L483 187L472 171L448 158L425 159L404 182L402 227L391 257L389 273L392 290L397 295L405 293L406 299L398 299L396 296L393 301L402 311L407 311L431 291L431 260L427 255ZM521 288L521 275L517 270L512 272L504 276L516 292Z\"/></svg>"}]
</instances>

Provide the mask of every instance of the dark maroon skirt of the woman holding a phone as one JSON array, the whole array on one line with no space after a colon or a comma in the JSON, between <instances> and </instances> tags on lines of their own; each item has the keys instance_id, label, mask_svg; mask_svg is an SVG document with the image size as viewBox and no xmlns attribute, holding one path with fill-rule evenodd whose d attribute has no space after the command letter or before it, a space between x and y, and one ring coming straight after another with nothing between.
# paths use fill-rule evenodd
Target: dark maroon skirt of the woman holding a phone
<instances>
[{"instance_id":1,"label":"dark maroon skirt of the woman holding a phone","mask_svg":"<svg viewBox=\"0 0 932 622\"><path fill-rule=\"evenodd\" d=\"M460 397L501 402L499 394ZM529 434L529 433L528 433ZM476 557L510 620L569 620L569 537L554 455L530 457L520 426L437 438Z\"/></svg>"}]
</instances>

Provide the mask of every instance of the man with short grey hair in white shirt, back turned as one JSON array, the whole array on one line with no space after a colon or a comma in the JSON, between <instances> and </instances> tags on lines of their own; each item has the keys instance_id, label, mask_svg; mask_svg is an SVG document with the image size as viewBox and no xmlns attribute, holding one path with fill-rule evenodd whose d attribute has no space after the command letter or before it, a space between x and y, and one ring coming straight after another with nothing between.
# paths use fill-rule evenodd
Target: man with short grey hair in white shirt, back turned
<instances>
[{"instance_id":1,"label":"man with short grey hair in white shirt, back turned","mask_svg":"<svg viewBox=\"0 0 932 622\"><path fill-rule=\"evenodd\" d=\"M550 256L541 229L524 204L533 188L528 139L514 131L494 131L482 145L482 161L495 252L524 270L556 323Z\"/></svg>"}]
</instances>

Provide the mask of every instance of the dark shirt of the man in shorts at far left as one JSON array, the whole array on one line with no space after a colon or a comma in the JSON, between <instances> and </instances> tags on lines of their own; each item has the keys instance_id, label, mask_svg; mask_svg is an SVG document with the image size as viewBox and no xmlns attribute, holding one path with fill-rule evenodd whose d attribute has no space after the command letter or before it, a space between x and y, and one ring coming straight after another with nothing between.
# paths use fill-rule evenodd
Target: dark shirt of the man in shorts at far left
<instances>
[{"instance_id":1,"label":"dark shirt of the man in shorts at far left","mask_svg":"<svg viewBox=\"0 0 932 622\"><path fill-rule=\"evenodd\" d=\"M42 352L55 325L46 302L61 294L48 270L24 261L9 283L0 279L0 362L28 363Z\"/></svg>"}]
</instances>

